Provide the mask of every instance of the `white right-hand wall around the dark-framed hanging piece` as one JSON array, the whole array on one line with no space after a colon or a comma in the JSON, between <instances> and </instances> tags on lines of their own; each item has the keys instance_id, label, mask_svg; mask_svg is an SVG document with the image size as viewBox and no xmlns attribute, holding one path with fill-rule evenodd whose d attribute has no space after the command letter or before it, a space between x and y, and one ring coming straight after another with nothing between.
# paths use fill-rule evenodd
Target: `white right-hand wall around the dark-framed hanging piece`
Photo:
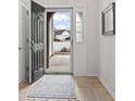
<instances>
[{"instance_id":1,"label":"white right-hand wall around the dark-framed hanging piece","mask_svg":"<svg viewBox=\"0 0 135 101\"><path fill-rule=\"evenodd\" d=\"M115 94L115 36L101 35L101 11L113 0L99 0L99 70L98 77L114 98Z\"/></svg>"}]
</instances>

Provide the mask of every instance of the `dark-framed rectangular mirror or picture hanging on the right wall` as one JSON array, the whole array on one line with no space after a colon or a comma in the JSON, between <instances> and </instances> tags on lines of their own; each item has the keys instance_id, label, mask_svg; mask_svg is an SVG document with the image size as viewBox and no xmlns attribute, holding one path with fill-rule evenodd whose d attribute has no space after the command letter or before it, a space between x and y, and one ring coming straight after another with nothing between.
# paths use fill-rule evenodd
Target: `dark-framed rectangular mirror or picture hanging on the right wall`
<instances>
[{"instance_id":1,"label":"dark-framed rectangular mirror or picture hanging on the right wall","mask_svg":"<svg viewBox=\"0 0 135 101\"><path fill-rule=\"evenodd\" d=\"M115 35L115 2L101 12L102 35Z\"/></svg>"}]
</instances>

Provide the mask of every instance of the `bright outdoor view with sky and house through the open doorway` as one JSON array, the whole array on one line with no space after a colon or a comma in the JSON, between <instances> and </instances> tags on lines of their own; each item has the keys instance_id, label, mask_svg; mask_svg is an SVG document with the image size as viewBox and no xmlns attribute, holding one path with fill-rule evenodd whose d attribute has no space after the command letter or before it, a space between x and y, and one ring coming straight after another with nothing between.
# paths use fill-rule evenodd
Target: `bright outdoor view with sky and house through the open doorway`
<instances>
[{"instance_id":1,"label":"bright outdoor view with sky and house through the open doorway","mask_svg":"<svg viewBox=\"0 0 135 101\"><path fill-rule=\"evenodd\" d=\"M62 11L61 11L62 10ZM46 73L72 73L71 9L47 9L47 67Z\"/></svg>"}]
</instances>

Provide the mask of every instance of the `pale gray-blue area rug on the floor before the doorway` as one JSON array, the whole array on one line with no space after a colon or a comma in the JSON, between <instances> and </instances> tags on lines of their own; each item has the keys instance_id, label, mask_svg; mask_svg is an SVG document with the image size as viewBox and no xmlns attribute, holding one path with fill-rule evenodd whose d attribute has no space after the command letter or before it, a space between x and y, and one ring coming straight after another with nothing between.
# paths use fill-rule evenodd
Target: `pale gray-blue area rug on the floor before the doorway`
<instances>
[{"instance_id":1,"label":"pale gray-blue area rug on the floor before the doorway","mask_svg":"<svg viewBox=\"0 0 135 101\"><path fill-rule=\"evenodd\" d=\"M75 100L76 92L74 79L70 75L45 75L30 89L28 98Z\"/></svg>"}]
</instances>

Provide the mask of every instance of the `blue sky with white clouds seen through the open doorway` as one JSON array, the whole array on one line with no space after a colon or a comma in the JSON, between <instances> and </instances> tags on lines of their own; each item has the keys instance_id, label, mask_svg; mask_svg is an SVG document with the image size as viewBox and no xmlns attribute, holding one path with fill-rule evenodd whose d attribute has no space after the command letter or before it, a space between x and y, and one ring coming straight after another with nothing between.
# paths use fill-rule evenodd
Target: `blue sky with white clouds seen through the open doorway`
<instances>
[{"instance_id":1,"label":"blue sky with white clouds seen through the open doorway","mask_svg":"<svg viewBox=\"0 0 135 101\"><path fill-rule=\"evenodd\" d=\"M70 12L57 12L53 15L53 26L58 29L70 29Z\"/></svg>"}]
</instances>

